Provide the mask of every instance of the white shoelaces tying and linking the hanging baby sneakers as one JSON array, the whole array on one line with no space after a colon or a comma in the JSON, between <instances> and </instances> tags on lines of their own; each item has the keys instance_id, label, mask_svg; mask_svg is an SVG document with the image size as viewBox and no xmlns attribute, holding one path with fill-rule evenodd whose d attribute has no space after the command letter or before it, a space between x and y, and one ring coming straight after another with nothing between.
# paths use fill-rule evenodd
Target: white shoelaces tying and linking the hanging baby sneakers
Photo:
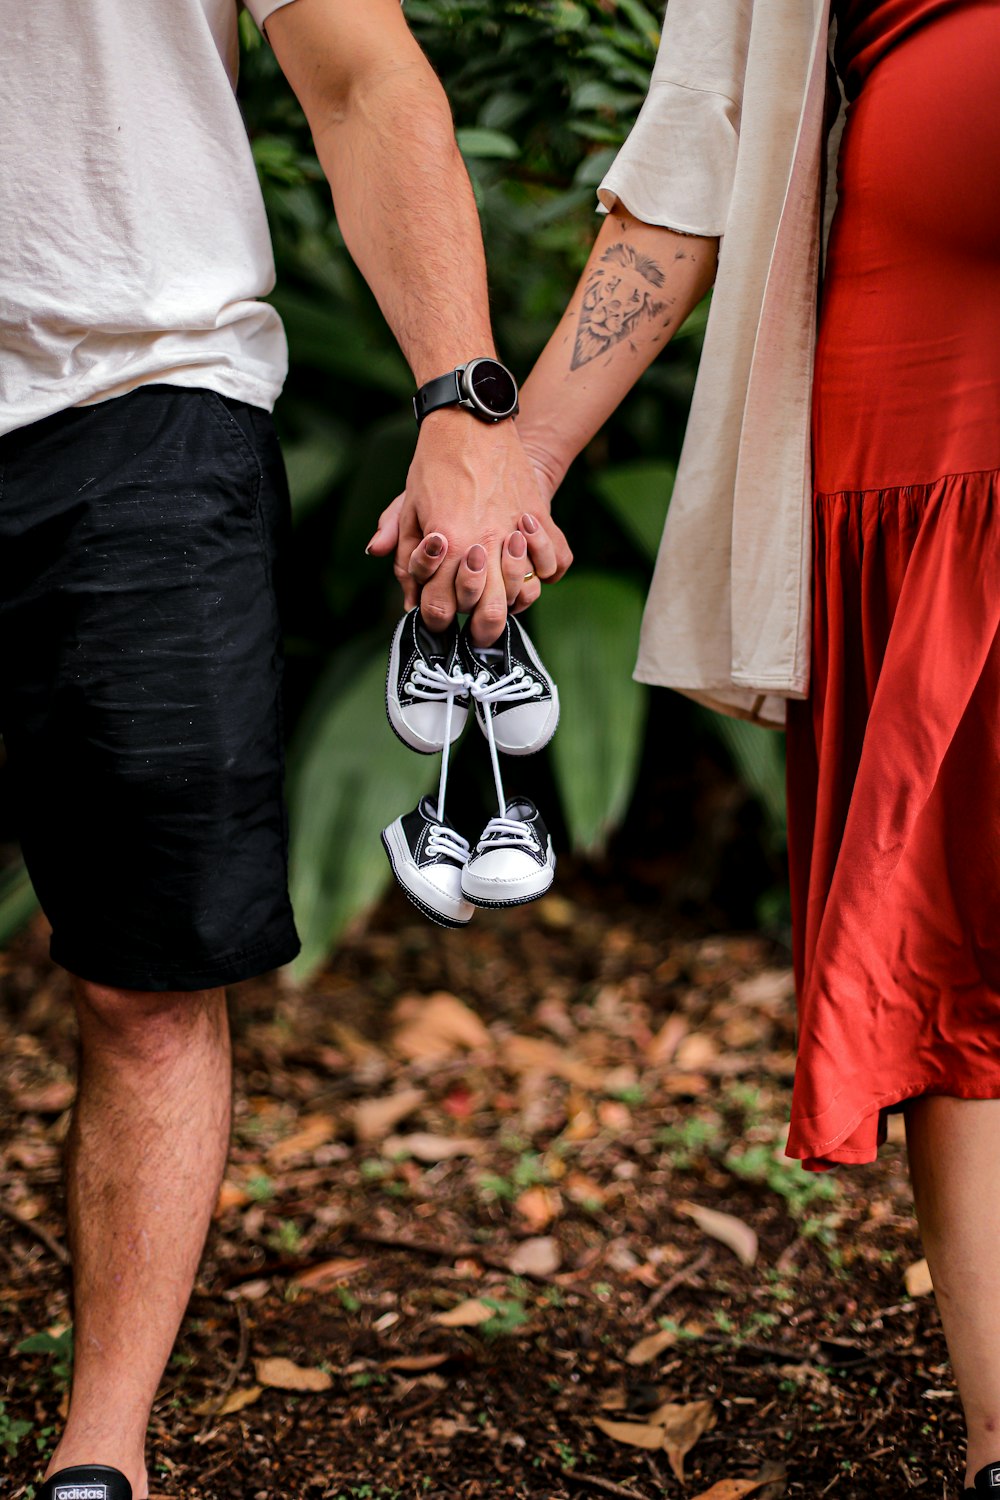
<instances>
[{"instance_id":1,"label":"white shoelaces tying and linking the hanging baby sneakers","mask_svg":"<svg viewBox=\"0 0 1000 1500\"><path fill-rule=\"evenodd\" d=\"M490 682L487 672L480 672L477 676L472 676L471 672L462 672L457 666L453 668L451 672L445 672L439 662L435 662L433 666L427 666L426 662L415 663L409 682L406 684L406 693L411 698L421 698L427 702L445 704L441 778L438 782L438 806L435 808L438 824L432 828L432 836L427 843L429 854L435 852L432 844L436 844L436 852L447 854L450 858L460 858L462 862L465 862L469 856L469 844L462 834L442 826L444 804L448 790L448 762L451 756L451 718L454 714L456 699L465 698L466 694L483 705L486 740L490 747L490 764L493 766L493 786L496 788L496 802L499 807L499 816L490 818L489 824L483 830L480 846L487 842L493 849L523 849L534 846L531 828L526 824L507 816L507 798L504 795L499 756L496 753L492 705L523 702L528 698L538 698L541 692L543 684L537 681L537 678L529 676L523 666L516 666L495 682ZM453 838L457 840L454 852L450 843ZM459 844L463 846L465 854L457 852Z\"/></svg>"}]
</instances>

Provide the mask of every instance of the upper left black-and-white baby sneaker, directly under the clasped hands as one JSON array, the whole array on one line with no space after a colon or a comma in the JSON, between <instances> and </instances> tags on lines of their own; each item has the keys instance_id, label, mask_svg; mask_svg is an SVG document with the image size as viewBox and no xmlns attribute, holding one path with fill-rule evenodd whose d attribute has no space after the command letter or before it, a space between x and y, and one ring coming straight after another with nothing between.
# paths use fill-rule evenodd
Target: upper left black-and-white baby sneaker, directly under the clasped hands
<instances>
[{"instance_id":1,"label":"upper left black-and-white baby sneaker, directly under the clasped hands","mask_svg":"<svg viewBox=\"0 0 1000 1500\"><path fill-rule=\"evenodd\" d=\"M456 622L436 634L411 609L393 632L385 675L385 712L394 732L421 754L454 744L469 717L469 690L459 663Z\"/></svg>"}]
</instances>

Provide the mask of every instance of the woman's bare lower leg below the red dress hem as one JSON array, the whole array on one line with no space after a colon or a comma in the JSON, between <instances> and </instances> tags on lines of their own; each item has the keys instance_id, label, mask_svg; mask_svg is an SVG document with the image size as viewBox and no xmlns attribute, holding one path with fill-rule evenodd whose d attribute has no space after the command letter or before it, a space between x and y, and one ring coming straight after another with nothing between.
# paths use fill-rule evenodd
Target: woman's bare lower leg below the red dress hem
<instances>
[{"instance_id":1,"label":"woman's bare lower leg below the red dress hem","mask_svg":"<svg viewBox=\"0 0 1000 1500\"><path fill-rule=\"evenodd\" d=\"M915 1100L910 1174L969 1428L967 1484L1000 1460L1000 1100Z\"/></svg>"}]
</instances>

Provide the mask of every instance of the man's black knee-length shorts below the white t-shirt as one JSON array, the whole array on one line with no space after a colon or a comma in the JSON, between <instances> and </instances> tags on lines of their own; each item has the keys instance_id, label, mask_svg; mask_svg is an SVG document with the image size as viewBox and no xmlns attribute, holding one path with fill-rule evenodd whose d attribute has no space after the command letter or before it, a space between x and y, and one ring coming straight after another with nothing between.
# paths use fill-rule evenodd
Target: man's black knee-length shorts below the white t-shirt
<instances>
[{"instance_id":1,"label":"man's black knee-length shorts below the white t-shirt","mask_svg":"<svg viewBox=\"0 0 1000 1500\"><path fill-rule=\"evenodd\" d=\"M267 412L144 386L0 438L0 730L57 963L201 990L298 951Z\"/></svg>"}]
</instances>

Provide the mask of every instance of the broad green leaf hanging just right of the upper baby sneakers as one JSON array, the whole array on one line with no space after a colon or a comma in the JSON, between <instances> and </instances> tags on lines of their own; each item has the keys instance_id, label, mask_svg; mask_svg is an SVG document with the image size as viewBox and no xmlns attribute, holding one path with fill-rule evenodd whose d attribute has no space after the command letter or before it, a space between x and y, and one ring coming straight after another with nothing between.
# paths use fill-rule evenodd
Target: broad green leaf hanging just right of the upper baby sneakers
<instances>
[{"instance_id":1,"label":"broad green leaf hanging just right of the upper baby sneakers","mask_svg":"<svg viewBox=\"0 0 1000 1500\"><path fill-rule=\"evenodd\" d=\"M600 854L639 771L648 692L633 681L643 590L612 573L571 573L544 591L532 634L559 684L552 760L573 848Z\"/></svg>"}]
</instances>

